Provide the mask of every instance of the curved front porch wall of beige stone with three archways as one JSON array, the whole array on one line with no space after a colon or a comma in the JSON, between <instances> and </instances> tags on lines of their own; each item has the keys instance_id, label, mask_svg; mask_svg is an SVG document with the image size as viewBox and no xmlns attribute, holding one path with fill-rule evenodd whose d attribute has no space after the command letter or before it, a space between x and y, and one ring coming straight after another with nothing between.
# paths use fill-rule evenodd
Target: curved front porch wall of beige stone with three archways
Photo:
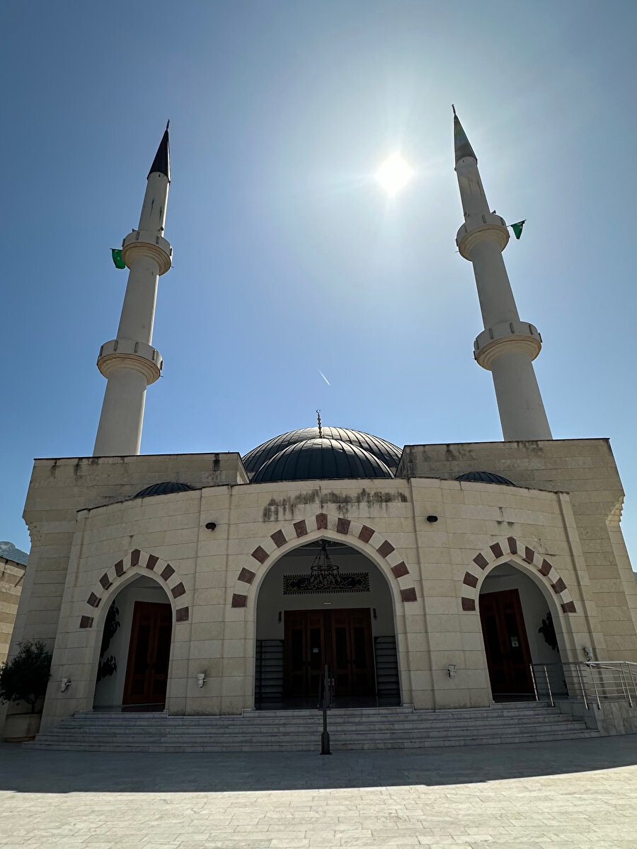
<instances>
[{"instance_id":1,"label":"curved front porch wall of beige stone with three archways","mask_svg":"<svg viewBox=\"0 0 637 849\"><path fill-rule=\"evenodd\" d=\"M419 708L486 705L479 614L475 604L466 610L463 599L476 599L494 565L514 562L541 588L564 660L583 659L583 645L603 650L588 576L572 554L577 531L567 529L563 498L431 479L308 481L291 491L285 483L214 486L83 510L65 579L45 724L92 706L105 612L137 575L155 578L175 614L168 709L232 714L253 707L259 585L281 555L321 537L352 545L386 576L403 702ZM435 523L427 521L432 514ZM211 521L214 531L206 529ZM543 559L527 563L511 554L509 538L520 551L530 546L550 556L550 576L538 570ZM481 552L489 560L484 570L475 560ZM476 573L476 587L466 584L467 571ZM553 588L556 576L566 583L564 592ZM564 599L572 600L572 612L562 610ZM82 627L89 620L90 627ZM454 679L447 674L450 663L458 668ZM208 678L204 689L196 684L199 672ZM65 694L59 693L60 678L73 681Z\"/></svg>"}]
</instances>

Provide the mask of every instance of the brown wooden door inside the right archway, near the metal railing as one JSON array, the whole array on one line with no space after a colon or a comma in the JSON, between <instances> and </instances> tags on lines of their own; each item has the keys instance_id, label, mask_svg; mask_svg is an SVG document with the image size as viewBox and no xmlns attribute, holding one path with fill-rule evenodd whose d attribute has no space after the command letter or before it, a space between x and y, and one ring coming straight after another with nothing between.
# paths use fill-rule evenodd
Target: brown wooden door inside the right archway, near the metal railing
<instances>
[{"instance_id":1,"label":"brown wooden door inside the right archway, near the metal railing","mask_svg":"<svg viewBox=\"0 0 637 849\"><path fill-rule=\"evenodd\" d=\"M516 589L482 593L480 620L493 698L533 694L531 652Z\"/></svg>"}]
</instances>

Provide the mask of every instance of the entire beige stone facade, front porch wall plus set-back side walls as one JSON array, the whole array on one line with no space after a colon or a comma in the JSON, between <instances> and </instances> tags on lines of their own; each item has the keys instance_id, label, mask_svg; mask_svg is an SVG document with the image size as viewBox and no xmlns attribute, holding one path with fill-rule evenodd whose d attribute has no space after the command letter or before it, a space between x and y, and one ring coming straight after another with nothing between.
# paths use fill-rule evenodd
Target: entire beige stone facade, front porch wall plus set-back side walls
<instances>
[{"instance_id":1,"label":"entire beige stone facade, front porch wall plus set-back side walls","mask_svg":"<svg viewBox=\"0 0 637 849\"><path fill-rule=\"evenodd\" d=\"M476 469L516 486L454 480ZM166 480L195 488L133 498ZM484 706L477 599L495 567L514 566L542 593L562 661L584 660L584 646L637 661L622 499L606 440L408 446L387 480L252 484L233 453L37 460L14 644L54 648L43 728L90 710L106 612L144 576L172 607L166 710L240 713L254 707L262 580L327 539L363 554L390 588L403 704Z\"/></svg>"}]
</instances>

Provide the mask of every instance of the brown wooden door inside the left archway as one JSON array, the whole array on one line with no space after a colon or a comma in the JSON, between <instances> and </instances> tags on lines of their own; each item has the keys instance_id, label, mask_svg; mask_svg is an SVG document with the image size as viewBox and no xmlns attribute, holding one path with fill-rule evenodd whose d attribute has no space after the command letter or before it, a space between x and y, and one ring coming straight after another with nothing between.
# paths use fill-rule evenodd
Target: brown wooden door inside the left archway
<instances>
[{"instance_id":1,"label":"brown wooden door inside the left archway","mask_svg":"<svg viewBox=\"0 0 637 849\"><path fill-rule=\"evenodd\" d=\"M135 602L122 705L163 710L171 634L170 604Z\"/></svg>"}]
</instances>

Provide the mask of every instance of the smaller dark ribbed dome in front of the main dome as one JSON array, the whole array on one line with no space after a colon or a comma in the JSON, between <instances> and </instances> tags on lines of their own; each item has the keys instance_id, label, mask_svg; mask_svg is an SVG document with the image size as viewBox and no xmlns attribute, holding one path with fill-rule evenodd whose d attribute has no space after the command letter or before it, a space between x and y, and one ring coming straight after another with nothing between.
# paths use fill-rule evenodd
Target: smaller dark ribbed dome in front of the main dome
<instances>
[{"instance_id":1,"label":"smaller dark ribbed dome in front of the main dome","mask_svg":"<svg viewBox=\"0 0 637 849\"><path fill-rule=\"evenodd\" d=\"M306 439L285 447L264 463L252 483L330 481L333 478L393 477L382 460L339 439Z\"/></svg>"}]
</instances>

